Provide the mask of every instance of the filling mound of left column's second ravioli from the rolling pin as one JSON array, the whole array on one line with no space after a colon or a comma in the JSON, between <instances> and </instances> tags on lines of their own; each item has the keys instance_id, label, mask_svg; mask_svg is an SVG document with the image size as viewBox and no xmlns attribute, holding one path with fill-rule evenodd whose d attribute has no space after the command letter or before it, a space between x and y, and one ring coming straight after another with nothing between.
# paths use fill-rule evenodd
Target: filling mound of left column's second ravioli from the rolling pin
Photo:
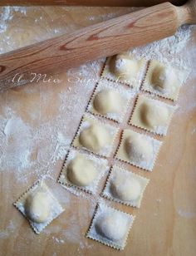
<instances>
[{"instance_id":1,"label":"filling mound of left column's second ravioli from the rolling pin","mask_svg":"<svg viewBox=\"0 0 196 256\"><path fill-rule=\"evenodd\" d=\"M123 97L120 96L119 92L105 89L96 94L93 105L96 111L102 115L109 113L119 114L124 109L123 102Z\"/></svg>"}]
</instances>

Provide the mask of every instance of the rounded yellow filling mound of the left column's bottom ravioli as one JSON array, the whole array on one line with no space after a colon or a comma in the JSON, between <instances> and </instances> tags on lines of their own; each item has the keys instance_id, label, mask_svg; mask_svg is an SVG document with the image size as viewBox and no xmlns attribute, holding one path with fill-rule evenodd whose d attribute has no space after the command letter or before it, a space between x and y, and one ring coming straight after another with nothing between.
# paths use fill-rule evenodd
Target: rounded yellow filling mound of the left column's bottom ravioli
<instances>
[{"instance_id":1,"label":"rounded yellow filling mound of the left column's bottom ravioli","mask_svg":"<svg viewBox=\"0 0 196 256\"><path fill-rule=\"evenodd\" d=\"M87 186L96 180L98 170L91 160L83 155L77 155L67 166L67 177L72 184Z\"/></svg>"}]
</instances>

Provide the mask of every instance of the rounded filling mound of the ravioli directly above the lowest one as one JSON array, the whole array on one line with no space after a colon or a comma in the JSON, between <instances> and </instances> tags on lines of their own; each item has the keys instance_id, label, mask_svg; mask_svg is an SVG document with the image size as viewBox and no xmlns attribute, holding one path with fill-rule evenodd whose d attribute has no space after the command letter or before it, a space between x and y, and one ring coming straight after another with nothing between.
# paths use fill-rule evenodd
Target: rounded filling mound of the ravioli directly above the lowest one
<instances>
[{"instance_id":1,"label":"rounded filling mound of the ravioli directly above the lowest one","mask_svg":"<svg viewBox=\"0 0 196 256\"><path fill-rule=\"evenodd\" d=\"M127 180L125 177L118 175L110 183L111 193L123 201L138 199L141 193L140 182L135 178Z\"/></svg>"}]
</instances>

